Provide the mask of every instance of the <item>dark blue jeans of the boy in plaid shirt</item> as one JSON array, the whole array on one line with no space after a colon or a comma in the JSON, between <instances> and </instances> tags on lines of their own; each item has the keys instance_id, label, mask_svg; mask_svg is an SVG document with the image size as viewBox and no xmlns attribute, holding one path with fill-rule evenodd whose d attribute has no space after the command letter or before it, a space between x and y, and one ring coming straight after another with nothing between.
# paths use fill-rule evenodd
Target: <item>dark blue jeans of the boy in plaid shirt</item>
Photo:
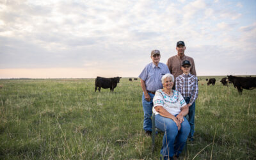
<instances>
[{"instance_id":1,"label":"dark blue jeans of the boy in plaid shirt","mask_svg":"<svg viewBox=\"0 0 256 160\"><path fill-rule=\"evenodd\" d=\"M184 98L187 104L189 104L190 98L191 97ZM189 107L188 115L186 115L186 118L188 119L190 125L189 138L193 138L195 132L195 111L196 103L193 102L193 104Z\"/></svg>"}]
</instances>

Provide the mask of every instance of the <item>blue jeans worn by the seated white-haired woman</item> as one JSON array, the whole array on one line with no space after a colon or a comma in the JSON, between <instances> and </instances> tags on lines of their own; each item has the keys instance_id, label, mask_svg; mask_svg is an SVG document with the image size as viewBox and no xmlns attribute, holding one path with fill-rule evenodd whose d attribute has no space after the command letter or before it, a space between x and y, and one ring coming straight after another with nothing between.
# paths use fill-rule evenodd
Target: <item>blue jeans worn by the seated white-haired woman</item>
<instances>
[{"instance_id":1,"label":"blue jeans worn by the seated white-haired woman","mask_svg":"<svg viewBox=\"0 0 256 160\"><path fill-rule=\"evenodd\" d=\"M188 120L184 117L180 131L178 131L176 123L170 118L158 114L155 121L156 127L164 132L161 155L164 158L173 157L174 155L179 156L186 144L190 131Z\"/></svg>"}]
</instances>

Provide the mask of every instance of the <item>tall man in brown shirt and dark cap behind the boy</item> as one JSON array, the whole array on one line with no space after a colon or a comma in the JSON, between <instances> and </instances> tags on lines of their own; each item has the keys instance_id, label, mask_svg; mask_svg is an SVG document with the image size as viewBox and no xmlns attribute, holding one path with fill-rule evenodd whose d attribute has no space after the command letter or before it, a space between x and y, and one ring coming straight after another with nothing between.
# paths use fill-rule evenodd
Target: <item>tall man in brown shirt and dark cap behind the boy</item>
<instances>
[{"instance_id":1,"label":"tall man in brown shirt and dark cap behind the boy","mask_svg":"<svg viewBox=\"0 0 256 160\"><path fill-rule=\"evenodd\" d=\"M195 69L195 63L193 58L189 56L185 56L185 50L186 50L185 43L183 41L177 42L176 50L177 50L177 55L170 57L166 63L171 74L173 74L174 78L176 79L176 77L180 76L180 74L183 74L183 71L180 68L182 65L182 61L184 60L190 61L191 63L190 72L191 74L196 76L196 69Z\"/></svg>"}]
</instances>

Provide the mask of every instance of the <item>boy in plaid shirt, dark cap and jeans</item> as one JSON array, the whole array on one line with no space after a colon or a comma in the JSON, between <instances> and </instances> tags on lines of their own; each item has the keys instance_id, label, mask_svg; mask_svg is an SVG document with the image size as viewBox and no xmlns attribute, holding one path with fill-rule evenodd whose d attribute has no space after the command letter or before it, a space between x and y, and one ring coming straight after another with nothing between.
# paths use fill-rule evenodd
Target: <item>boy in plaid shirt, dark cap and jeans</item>
<instances>
[{"instance_id":1,"label":"boy in plaid shirt, dark cap and jeans","mask_svg":"<svg viewBox=\"0 0 256 160\"><path fill-rule=\"evenodd\" d=\"M189 140L193 141L195 132L195 108L196 98L198 97L198 83L197 77L190 73L191 63L188 60L182 61L181 70L183 74L176 78L176 90L181 93L186 103L188 104L189 112L188 119L190 125Z\"/></svg>"}]
</instances>

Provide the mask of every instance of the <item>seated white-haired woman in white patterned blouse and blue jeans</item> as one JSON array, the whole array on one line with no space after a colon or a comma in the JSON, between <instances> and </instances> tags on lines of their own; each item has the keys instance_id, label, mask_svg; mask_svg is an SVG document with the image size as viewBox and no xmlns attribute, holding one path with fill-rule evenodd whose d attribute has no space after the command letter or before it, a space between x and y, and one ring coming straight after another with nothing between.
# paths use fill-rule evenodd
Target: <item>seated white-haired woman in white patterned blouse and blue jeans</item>
<instances>
[{"instance_id":1,"label":"seated white-haired woman in white patterned blouse and blue jeans","mask_svg":"<svg viewBox=\"0 0 256 160\"><path fill-rule=\"evenodd\" d=\"M163 89L157 90L153 99L156 127L164 132L161 148L164 159L179 157L190 131L189 122L184 117L188 114L188 106L180 92L172 90L173 81L172 74L165 74Z\"/></svg>"}]
</instances>

